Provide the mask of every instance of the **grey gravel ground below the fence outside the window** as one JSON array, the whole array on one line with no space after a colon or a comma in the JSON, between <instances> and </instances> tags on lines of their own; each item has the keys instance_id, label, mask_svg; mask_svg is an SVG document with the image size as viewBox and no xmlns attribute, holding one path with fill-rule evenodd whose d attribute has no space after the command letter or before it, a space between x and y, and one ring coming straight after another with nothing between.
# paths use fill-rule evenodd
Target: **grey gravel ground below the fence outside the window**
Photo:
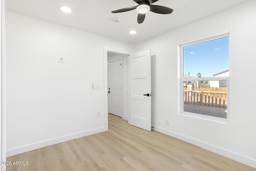
<instances>
[{"instance_id":1,"label":"grey gravel ground below the fence outside the window","mask_svg":"<svg viewBox=\"0 0 256 171\"><path fill-rule=\"evenodd\" d=\"M184 111L208 116L227 118L226 108L184 104Z\"/></svg>"}]
</instances>

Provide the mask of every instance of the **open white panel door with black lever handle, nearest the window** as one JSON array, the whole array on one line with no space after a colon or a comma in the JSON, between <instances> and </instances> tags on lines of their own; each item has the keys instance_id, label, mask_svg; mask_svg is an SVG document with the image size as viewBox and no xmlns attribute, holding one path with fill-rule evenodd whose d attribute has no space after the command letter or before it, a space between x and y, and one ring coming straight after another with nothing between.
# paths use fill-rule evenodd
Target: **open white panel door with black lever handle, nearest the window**
<instances>
[{"instance_id":1,"label":"open white panel door with black lever handle, nearest the window","mask_svg":"<svg viewBox=\"0 0 256 171\"><path fill-rule=\"evenodd\" d=\"M150 50L130 55L130 124L151 131Z\"/></svg>"}]
</instances>

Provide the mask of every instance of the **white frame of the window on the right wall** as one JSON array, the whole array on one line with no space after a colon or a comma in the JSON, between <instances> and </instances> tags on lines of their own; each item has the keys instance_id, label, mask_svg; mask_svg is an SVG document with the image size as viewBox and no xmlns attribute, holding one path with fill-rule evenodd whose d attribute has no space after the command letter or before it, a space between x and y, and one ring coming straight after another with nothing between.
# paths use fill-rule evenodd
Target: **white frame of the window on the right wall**
<instances>
[{"instance_id":1,"label":"white frame of the window on the right wall","mask_svg":"<svg viewBox=\"0 0 256 171\"><path fill-rule=\"evenodd\" d=\"M229 97L230 97L230 84L229 84L229 76L225 77L201 77L201 78L183 78L183 47L191 46L194 44L199 44L203 42L208 42L211 40L216 40L219 38L224 37L230 37L229 32L224 32L221 34L217 34L214 36L209 36L206 38L186 42L183 44L178 45L178 114L179 115L185 115L188 117L195 117L198 119L205 119L209 121L216 121L220 123L230 123L230 109L229 109ZM226 80L227 81L227 118L220 118L220 117L214 117L214 116L208 116L208 115L202 115L198 113L190 113L184 111L184 82L186 81L220 81L220 80Z\"/></svg>"}]
</instances>

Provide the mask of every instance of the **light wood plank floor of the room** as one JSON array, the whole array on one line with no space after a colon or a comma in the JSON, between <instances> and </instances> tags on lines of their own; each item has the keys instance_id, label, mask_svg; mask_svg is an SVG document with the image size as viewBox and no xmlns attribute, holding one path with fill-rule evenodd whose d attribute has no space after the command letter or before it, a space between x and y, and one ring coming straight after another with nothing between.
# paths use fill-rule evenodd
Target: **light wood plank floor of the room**
<instances>
[{"instance_id":1,"label":"light wood plank floor of the room","mask_svg":"<svg viewBox=\"0 0 256 171\"><path fill-rule=\"evenodd\" d=\"M7 171L256 171L157 131L109 115L109 131L36 149L7 161Z\"/></svg>"}]
</instances>

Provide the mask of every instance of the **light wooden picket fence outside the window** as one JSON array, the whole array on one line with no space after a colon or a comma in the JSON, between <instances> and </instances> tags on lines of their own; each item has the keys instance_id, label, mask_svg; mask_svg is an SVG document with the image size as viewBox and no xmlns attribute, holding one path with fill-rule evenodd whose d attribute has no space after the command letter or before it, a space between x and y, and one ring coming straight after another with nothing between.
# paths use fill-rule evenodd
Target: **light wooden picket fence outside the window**
<instances>
[{"instance_id":1,"label":"light wooden picket fence outside the window","mask_svg":"<svg viewBox=\"0 0 256 171\"><path fill-rule=\"evenodd\" d=\"M184 103L226 108L226 88L184 87Z\"/></svg>"}]
</instances>

